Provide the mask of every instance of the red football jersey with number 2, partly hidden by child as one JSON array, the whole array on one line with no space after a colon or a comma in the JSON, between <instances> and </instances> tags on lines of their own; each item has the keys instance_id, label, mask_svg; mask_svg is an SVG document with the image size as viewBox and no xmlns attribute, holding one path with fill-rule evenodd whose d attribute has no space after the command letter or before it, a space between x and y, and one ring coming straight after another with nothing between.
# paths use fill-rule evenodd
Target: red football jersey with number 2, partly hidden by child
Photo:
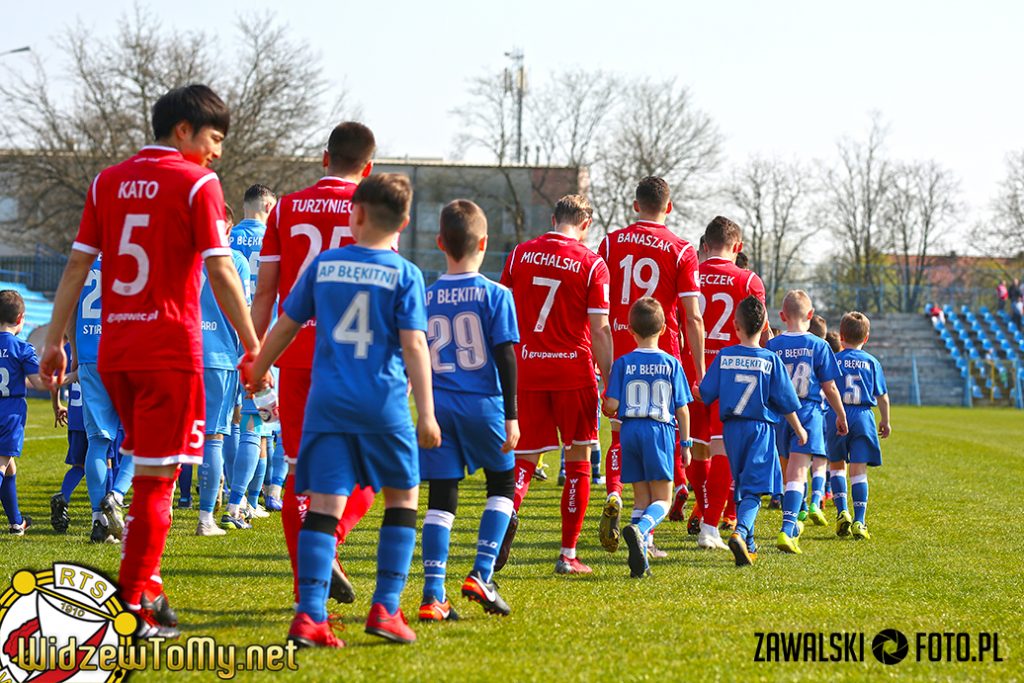
<instances>
[{"instance_id":1,"label":"red football jersey with number 2, partly hidden by child","mask_svg":"<svg viewBox=\"0 0 1024 683\"><path fill-rule=\"evenodd\" d=\"M717 256L700 264L700 314L705 321L705 367L726 346L738 344L736 304L749 296L765 301L765 286L756 272Z\"/></svg>"}]
</instances>

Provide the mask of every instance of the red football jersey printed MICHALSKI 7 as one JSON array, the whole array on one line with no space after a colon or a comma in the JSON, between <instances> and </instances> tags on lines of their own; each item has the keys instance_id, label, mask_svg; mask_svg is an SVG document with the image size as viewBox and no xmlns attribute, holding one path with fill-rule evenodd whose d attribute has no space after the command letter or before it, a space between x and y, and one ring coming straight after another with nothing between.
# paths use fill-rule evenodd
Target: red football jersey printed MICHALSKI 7
<instances>
[{"instance_id":1,"label":"red football jersey printed MICHALSKI 7","mask_svg":"<svg viewBox=\"0 0 1024 683\"><path fill-rule=\"evenodd\" d=\"M519 319L519 387L596 386L591 313L608 312L608 266L578 240L548 232L509 254L502 284Z\"/></svg>"}]
</instances>

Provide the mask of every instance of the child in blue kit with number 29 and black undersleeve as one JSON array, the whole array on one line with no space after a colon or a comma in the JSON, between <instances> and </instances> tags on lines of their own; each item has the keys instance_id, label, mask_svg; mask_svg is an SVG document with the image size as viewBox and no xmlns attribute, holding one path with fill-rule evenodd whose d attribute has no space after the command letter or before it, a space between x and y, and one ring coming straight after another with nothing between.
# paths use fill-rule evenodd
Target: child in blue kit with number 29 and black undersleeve
<instances>
[{"instance_id":1,"label":"child in blue kit with number 29 and black undersleeve","mask_svg":"<svg viewBox=\"0 0 1024 683\"><path fill-rule=\"evenodd\" d=\"M447 259L447 272L427 289L427 340L442 442L436 449L420 449L420 473L429 484L420 621L458 618L444 594L449 545L459 481L477 469L486 476L487 501L476 560L462 594L484 611L504 616L510 609L493 575L515 493L515 305L512 292L479 273L487 247L487 218L480 207L468 200L445 206L437 246Z\"/></svg>"}]
</instances>

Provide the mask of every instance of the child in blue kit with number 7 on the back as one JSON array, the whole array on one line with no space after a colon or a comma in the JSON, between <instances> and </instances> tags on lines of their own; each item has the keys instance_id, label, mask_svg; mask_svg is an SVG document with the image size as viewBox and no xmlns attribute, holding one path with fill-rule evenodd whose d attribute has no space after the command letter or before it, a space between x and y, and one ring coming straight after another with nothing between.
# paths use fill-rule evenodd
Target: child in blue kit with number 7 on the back
<instances>
[{"instance_id":1,"label":"child in blue kit with number 7 on the back","mask_svg":"<svg viewBox=\"0 0 1024 683\"><path fill-rule=\"evenodd\" d=\"M736 566L757 559L754 522L762 496L777 496L782 488L782 470L775 450L775 424L784 416L797 443L807 443L797 411L800 398L785 366L777 354L758 345L765 328L764 304L746 297L736 306L739 345L722 349L700 382L705 402L718 400L725 452L736 487L736 530L729 537L729 550Z\"/></svg>"}]
</instances>

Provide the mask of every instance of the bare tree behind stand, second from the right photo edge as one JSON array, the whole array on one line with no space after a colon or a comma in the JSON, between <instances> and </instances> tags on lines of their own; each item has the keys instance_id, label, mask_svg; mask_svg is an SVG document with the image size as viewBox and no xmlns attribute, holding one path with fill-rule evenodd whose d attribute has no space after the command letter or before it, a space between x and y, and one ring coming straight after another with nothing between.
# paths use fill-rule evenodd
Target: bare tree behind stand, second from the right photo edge
<instances>
[{"instance_id":1,"label":"bare tree behind stand, second from the right photo edge","mask_svg":"<svg viewBox=\"0 0 1024 683\"><path fill-rule=\"evenodd\" d=\"M893 253L898 310L914 311L923 304L926 276L946 228L961 215L959 183L935 162L898 164L890 174L890 189L882 227Z\"/></svg>"}]
</instances>

